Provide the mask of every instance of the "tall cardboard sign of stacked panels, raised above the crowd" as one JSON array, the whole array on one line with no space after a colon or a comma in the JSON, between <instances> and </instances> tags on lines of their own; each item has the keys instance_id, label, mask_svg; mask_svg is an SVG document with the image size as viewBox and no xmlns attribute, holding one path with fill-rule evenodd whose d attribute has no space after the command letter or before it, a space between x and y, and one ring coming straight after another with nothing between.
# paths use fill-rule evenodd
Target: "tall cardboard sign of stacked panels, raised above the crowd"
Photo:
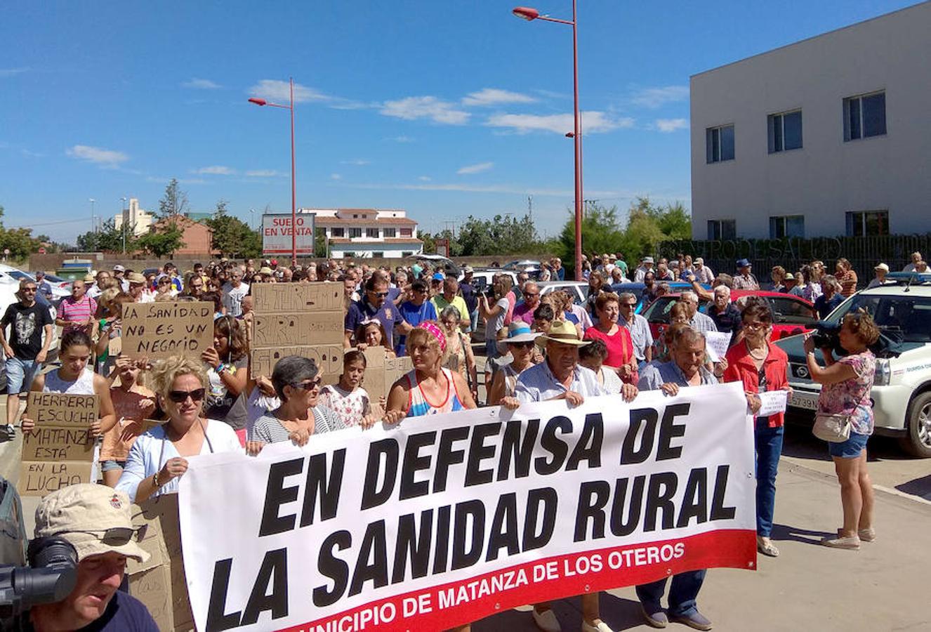
<instances>
[{"instance_id":1,"label":"tall cardboard sign of stacked panels, raised above the crowd","mask_svg":"<svg viewBox=\"0 0 931 632\"><path fill-rule=\"evenodd\" d=\"M271 375L284 356L310 357L324 382L343 370L345 303L338 283L258 283L251 288L250 371Z\"/></svg>"}]
</instances>

